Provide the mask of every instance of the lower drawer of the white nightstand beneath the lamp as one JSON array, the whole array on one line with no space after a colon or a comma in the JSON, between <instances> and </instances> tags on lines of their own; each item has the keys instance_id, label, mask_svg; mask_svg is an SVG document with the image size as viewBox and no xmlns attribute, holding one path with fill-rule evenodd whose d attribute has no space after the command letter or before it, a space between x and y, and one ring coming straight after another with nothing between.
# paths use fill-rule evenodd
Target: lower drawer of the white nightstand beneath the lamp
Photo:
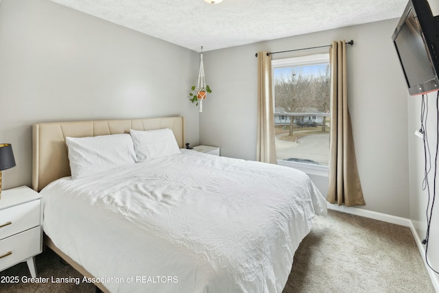
<instances>
[{"instance_id":1,"label":"lower drawer of the white nightstand beneath the lamp","mask_svg":"<svg viewBox=\"0 0 439 293\"><path fill-rule=\"evenodd\" d=\"M41 252L41 226L0 240L0 270Z\"/></svg>"}]
</instances>

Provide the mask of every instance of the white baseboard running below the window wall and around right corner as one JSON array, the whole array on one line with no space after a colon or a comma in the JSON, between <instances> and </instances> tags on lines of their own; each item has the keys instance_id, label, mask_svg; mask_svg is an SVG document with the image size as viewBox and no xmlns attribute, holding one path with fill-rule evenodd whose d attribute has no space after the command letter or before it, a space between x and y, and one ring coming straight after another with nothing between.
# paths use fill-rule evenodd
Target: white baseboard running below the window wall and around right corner
<instances>
[{"instance_id":1,"label":"white baseboard running below the window wall and around right corner","mask_svg":"<svg viewBox=\"0 0 439 293\"><path fill-rule=\"evenodd\" d=\"M392 224L397 224L401 226L406 226L410 228L410 231L412 231L412 235L414 237L414 240L416 242L416 246L418 246L419 253L421 257L423 258L425 268L427 268L427 272L429 274L429 277L431 279L431 283L433 283L434 290L439 293L439 275L436 274L429 266L427 265L427 262L425 261L425 247L422 244L422 241L416 232L416 229L414 228L414 225L412 223L412 220L396 217L394 215L387 215L385 213L377 213L376 211L368 211L366 209L358 209L356 207L345 207L345 206L339 206L337 204L330 204L327 202L328 209L333 209L335 211L342 211L344 213L351 213L353 215L361 215L362 217L371 218L375 220L380 220L383 222L388 222Z\"/></svg>"}]
</instances>

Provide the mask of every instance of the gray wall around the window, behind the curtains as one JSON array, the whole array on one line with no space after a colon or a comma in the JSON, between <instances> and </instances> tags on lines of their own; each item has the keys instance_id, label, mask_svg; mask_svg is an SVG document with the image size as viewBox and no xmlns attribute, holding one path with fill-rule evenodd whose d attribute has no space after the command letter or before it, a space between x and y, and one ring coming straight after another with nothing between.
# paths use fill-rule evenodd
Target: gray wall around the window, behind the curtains
<instances>
[{"instance_id":1,"label":"gray wall around the window, behind the curtains","mask_svg":"<svg viewBox=\"0 0 439 293\"><path fill-rule=\"evenodd\" d=\"M348 96L366 200L361 208L408 218L407 90L391 40L396 23L392 19L206 52L206 83L213 93L200 115L201 143L219 146L224 156L256 158L257 51L353 39L355 45L347 49ZM320 51L300 52L310 53Z\"/></svg>"}]
</instances>

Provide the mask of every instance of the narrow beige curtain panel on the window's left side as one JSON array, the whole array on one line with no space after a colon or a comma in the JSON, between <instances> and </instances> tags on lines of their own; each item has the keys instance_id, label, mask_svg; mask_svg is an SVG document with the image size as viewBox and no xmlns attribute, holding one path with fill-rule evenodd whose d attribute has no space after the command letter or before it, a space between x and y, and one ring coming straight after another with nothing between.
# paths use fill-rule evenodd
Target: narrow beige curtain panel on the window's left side
<instances>
[{"instance_id":1,"label":"narrow beige curtain panel on the window's left side","mask_svg":"<svg viewBox=\"0 0 439 293\"><path fill-rule=\"evenodd\" d=\"M257 161L276 164L272 93L272 58L258 52Z\"/></svg>"}]
</instances>

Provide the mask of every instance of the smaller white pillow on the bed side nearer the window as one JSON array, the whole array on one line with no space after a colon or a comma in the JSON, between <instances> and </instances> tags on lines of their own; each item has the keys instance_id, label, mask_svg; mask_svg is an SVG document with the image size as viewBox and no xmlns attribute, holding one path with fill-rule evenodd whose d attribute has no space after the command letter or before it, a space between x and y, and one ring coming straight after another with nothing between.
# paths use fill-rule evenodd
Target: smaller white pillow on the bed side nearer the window
<instances>
[{"instance_id":1,"label":"smaller white pillow on the bed side nearer the window","mask_svg":"<svg viewBox=\"0 0 439 293\"><path fill-rule=\"evenodd\" d=\"M139 162L180 154L174 132L169 128L145 131L131 129L130 134Z\"/></svg>"}]
</instances>

